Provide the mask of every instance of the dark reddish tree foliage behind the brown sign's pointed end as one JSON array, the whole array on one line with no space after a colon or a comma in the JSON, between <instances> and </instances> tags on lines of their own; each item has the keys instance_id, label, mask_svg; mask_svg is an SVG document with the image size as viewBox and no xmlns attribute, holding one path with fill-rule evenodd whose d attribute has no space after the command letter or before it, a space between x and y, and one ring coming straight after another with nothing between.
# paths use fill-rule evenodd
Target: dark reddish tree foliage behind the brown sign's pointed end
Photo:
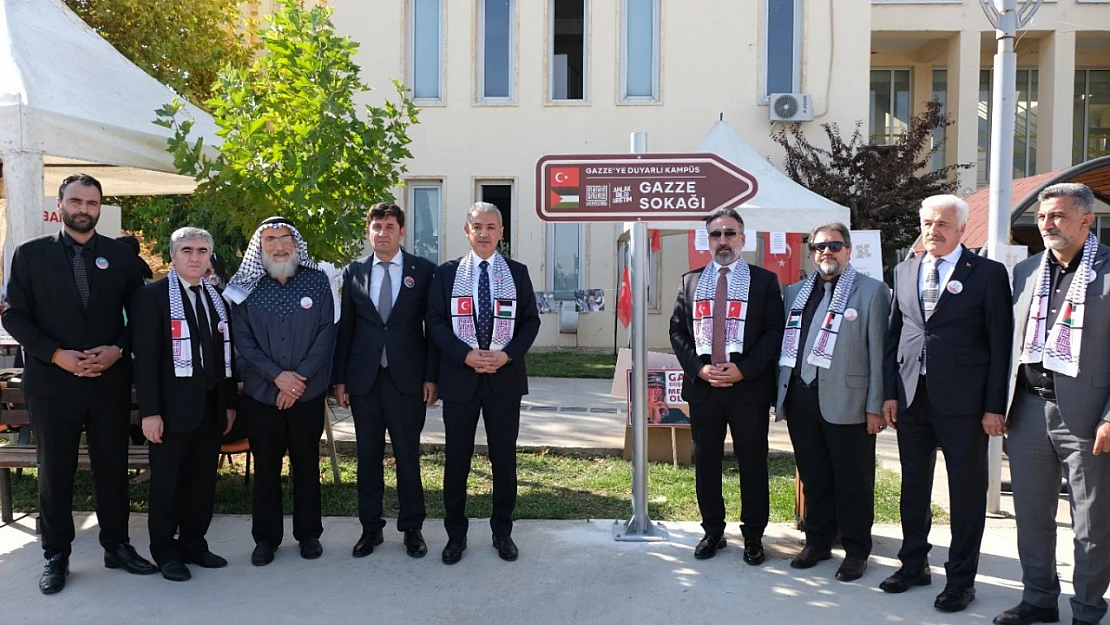
<instances>
[{"instance_id":1,"label":"dark reddish tree foliage behind the brown sign's pointed end","mask_svg":"<svg viewBox=\"0 0 1110 625\"><path fill-rule=\"evenodd\" d=\"M940 140L930 147L930 140L935 131L952 123L940 109L940 102L929 102L888 147L865 142L862 122L856 122L847 140L835 123L821 124L828 148L810 143L797 124L789 132L780 128L773 137L786 151L787 175L851 209L851 228L881 231L884 259L889 259L896 250L908 248L917 239L921 200L955 193L958 188L955 173L971 167L955 164L929 171L932 155L944 144Z\"/></svg>"}]
</instances>

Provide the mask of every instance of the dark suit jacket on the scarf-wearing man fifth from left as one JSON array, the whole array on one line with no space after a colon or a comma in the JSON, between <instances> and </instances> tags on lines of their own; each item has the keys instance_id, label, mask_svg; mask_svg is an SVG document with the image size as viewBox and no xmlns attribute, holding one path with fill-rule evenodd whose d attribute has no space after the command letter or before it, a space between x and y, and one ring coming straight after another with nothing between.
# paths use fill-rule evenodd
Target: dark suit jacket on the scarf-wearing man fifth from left
<instances>
[{"instance_id":1,"label":"dark suit jacket on the scarf-wearing man fifth from left","mask_svg":"<svg viewBox=\"0 0 1110 625\"><path fill-rule=\"evenodd\" d=\"M446 402L467 402L478 387L478 374L466 365L466 354L471 346L455 336L451 324L451 292L458 272L455 259L440 265L432 279L432 290L427 295L427 332L440 349L440 396ZM505 259L516 284L516 325L513 340L505 345L505 353L513 359L491 376L493 390L502 396L526 395L528 372L524 366L524 355L539 333L539 312L536 309L536 293L532 289L528 268ZM476 311L475 311L476 312Z\"/></svg>"}]
</instances>

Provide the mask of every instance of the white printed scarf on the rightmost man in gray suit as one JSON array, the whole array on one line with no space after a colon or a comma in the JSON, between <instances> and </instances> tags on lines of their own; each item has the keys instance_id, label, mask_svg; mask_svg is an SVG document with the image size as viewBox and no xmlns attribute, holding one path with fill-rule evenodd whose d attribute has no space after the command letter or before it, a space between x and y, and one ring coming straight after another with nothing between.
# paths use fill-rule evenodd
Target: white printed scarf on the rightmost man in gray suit
<instances>
[{"instance_id":1,"label":"white printed scarf on the rightmost man in gray suit","mask_svg":"<svg viewBox=\"0 0 1110 625\"><path fill-rule=\"evenodd\" d=\"M1098 249L1098 238L1093 233L1088 234L1079 268L1064 296L1063 309L1056 317L1056 323L1048 333L1048 340L1042 342L1052 293L1052 279L1048 266L1050 252L1045 250L1040 262L1040 283L1033 293L1032 305L1029 306L1029 320L1026 322L1026 337L1020 361L1022 364L1039 362L1049 371L1069 377L1079 375L1079 350L1083 339L1083 300L1087 299L1087 285L1094 280L1094 253Z\"/></svg>"}]
</instances>

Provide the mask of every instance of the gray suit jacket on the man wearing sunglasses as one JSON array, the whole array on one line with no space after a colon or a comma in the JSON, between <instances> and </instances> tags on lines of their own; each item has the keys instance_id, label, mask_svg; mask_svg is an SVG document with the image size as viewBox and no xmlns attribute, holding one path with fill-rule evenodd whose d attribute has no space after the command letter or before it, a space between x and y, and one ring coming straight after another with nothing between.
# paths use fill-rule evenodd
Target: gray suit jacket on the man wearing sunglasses
<instances>
[{"instance_id":1,"label":"gray suit jacket on the man wearing sunglasses","mask_svg":"<svg viewBox=\"0 0 1110 625\"><path fill-rule=\"evenodd\" d=\"M804 284L801 281L786 289L787 315ZM882 349L890 316L890 292L882 282L857 273L848 293L845 310L848 309L858 316L852 321L846 316L840 322L833 363L828 369L817 370L821 416L838 425L865 423L867 413L882 414ZM800 337L803 344L805 341L805 336ZM778 369L776 421L789 419L783 404L793 373L793 366Z\"/></svg>"}]
</instances>

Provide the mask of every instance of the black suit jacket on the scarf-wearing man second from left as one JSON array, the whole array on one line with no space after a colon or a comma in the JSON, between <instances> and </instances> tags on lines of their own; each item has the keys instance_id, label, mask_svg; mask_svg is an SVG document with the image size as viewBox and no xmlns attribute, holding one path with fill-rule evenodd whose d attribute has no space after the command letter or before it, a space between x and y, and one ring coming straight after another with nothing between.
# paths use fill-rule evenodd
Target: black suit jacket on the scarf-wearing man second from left
<instances>
[{"instance_id":1,"label":"black suit jacket on the scarf-wearing man second from left","mask_svg":"<svg viewBox=\"0 0 1110 625\"><path fill-rule=\"evenodd\" d=\"M189 296L181 293L185 305L185 319L190 335L194 337L193 375L178 377L173 371L173 347L170 336L170 281L152 282L135 293L131 310L135 353L135 394L139 399L139 416L161 415L167 432L190 432L201 424L208 401L204 373L201 370L200 347L195 337L200 335L196 315L189 305ZM215 308L209 301L209 322L215 345L213 353L220 360L216 383L216 423L220 431L226 426L228 409L236 405L238 390L233 377L224 376L223 350L220 346L220 321ZM231 314L230 311L228 314ZM228 320L230 323L230 319ZM234 361L234 359L232 359ZM234 363L232 363L234 366Z\"/></svg>"}]
</instances>

